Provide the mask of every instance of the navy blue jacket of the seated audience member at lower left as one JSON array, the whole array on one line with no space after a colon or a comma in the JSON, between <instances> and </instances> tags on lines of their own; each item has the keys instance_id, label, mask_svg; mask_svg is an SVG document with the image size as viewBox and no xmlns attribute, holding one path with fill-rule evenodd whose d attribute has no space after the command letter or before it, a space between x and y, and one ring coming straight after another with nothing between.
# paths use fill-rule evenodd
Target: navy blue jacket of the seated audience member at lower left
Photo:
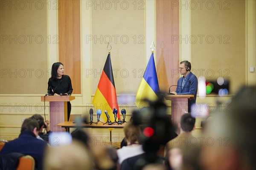
<instances>
[{"instance_id":1,"label":"navy blue jacket of the seated audience member at lower left","mask_svg":"<svg viewBox=\"0 0 256 170\"><path fill-rule=\"evenodd\" d=\"M44 150L47 143L37 139L31 131L25 130L13 141L7 142L2 148L0 155L7 153L22 153L35 159L35 168L42 169Z\"/></svg>"}]
</instances>

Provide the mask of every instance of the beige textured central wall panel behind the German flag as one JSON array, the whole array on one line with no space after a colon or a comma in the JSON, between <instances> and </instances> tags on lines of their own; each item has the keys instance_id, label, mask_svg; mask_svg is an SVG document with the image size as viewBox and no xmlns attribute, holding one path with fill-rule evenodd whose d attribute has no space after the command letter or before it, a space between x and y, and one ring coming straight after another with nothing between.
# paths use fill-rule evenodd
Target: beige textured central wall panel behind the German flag
<instances>
[{"instance_id":1,"label":"beige textured central wall panel behind the German flag","mask_svg":"<svg viewBox=\"0 0 256 170\"><path fill-rule=\"evenodd\" d=\"M100 2L104 1L99 1ZM110 2L110 1L109 1ZM136 3L136 6L134 6ZM92 8L92 34L87 35L92 44L93 94L108 55L111 41L111 63L116 93L135 94L145 71L145 2L121 0L116 5L94 4ZM108 9L109 8L109 9ZM148 49L148 48L147 48ZM150 49L149 49L150 50Z\"/></svg>"}]
</instances>

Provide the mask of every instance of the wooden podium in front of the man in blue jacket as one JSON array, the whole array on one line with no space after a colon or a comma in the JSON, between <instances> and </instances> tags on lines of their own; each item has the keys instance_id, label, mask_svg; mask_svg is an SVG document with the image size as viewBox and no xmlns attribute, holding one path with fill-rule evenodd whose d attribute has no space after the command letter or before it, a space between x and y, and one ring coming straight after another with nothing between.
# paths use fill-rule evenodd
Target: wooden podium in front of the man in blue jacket
<instances>
[{"instance_id":1,"label":"wooden podium in front of the man in blue jacket","mask_svg":"<svg viewBox=\"0 0 256 170\"><path fill-rule=\"evenodd\" d=\"M177 126L181 116L188 112L188 101L194 100L194 95L165 95L165 98L172 101L172 124Z\"/></svg>"}]
</instances>

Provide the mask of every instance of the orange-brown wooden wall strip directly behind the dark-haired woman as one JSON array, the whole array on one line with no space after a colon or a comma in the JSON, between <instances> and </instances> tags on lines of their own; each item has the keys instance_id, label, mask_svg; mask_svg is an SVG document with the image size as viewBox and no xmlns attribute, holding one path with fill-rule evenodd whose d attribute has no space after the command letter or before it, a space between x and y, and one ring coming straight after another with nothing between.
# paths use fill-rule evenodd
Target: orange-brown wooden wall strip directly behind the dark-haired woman
<instances>
[{"instance_id":1,"label":"orange-brown wooden wall strip directly behind the dark-haired woman","mask_svg":"<svg viewBox=\"0 0 256 170\"><path fill-rule=\"evenodd\" d=\"M58 61L72 81L73 94L81 94L80 0L58 0Z\"/></svg>"}]
</instances>

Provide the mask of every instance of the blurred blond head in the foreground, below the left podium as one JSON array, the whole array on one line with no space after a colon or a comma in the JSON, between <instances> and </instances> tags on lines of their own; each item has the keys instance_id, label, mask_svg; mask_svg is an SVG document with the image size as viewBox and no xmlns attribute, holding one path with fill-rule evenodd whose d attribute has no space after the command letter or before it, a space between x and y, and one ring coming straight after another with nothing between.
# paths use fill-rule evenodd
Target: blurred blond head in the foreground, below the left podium
<instances>
[{"instance_id":1,"label":"blurred blond head in the foreground, below the left podium","mask_svg":"<svg viewBox=\"0 0 256 170\"><path fill-rule=\"evenodd\" d=\"M44 156L45 170L91 170L92 161L87 148L80 141L49 147Z\"/></svg>"}]
</instances>

